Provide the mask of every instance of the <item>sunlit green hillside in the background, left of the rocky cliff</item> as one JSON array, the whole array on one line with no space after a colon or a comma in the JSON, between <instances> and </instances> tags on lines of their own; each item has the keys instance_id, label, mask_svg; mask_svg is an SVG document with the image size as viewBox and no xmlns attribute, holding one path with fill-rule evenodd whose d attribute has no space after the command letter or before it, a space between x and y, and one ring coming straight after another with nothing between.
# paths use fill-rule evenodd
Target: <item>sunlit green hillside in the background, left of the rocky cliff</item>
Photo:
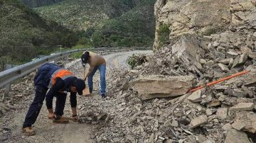
<instances>
[{"instance_id":1,"label":"sunlit green hillside in the background, left of the rocky cliff","mask_svg":"<svg viewBox=\"0 0 256 143\"><path fill-rule=\"evenodd\" d=\"M66 0L34 8L43 18L81 33L95 46L152 45L156 0ZM88 40L89 39L89 40Z\"/></svg>"}]
</instances>

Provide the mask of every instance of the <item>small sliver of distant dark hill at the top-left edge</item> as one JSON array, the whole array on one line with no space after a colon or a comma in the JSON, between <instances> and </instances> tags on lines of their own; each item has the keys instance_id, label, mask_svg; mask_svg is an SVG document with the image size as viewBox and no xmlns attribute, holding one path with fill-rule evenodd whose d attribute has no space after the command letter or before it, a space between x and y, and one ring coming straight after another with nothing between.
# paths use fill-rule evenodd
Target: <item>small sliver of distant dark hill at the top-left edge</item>
<instances>
[{"instance_id":1,"label":"small sliver of distant dark hill at the top-left edge","mask_svg":"<svg viewBox=\"0 0 256 143\"><path fill-rule=\"evenodd\" d=\"M48 6L50 4L56 4L63 0L22 0L26 6L38 7L38 6Z\"/></svg>"}]
</instances>

